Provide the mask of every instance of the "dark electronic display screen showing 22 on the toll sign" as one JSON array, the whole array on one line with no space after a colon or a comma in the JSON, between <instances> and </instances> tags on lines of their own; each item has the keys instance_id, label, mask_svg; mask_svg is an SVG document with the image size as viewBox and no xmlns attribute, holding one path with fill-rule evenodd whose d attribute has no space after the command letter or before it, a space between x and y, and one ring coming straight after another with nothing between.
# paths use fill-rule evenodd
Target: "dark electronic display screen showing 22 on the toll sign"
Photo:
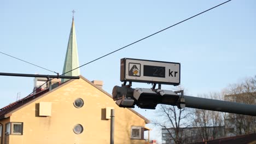
<instances>
[{"instance_id":1,"label":"dark electronic display screen showing 22 on the toll sign","mask_svg":"<svg viewBox=\"0 0 256 144\"><path fill-rule=\"evenodd\" d=\"M143 76L165 77L165 67L144 65Z\"/></svg>"}]
</instances>

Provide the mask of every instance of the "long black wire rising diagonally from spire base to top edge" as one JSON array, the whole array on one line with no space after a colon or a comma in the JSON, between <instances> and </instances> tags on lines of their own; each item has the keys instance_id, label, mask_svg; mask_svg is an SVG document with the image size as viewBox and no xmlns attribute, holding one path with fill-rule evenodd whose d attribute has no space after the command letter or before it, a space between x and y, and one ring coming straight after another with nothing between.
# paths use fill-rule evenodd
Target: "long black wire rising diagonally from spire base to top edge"
<instances>
[{"instance_id":1,"label":"long black wire rising diagonally from spire base to top edge","mask_svg":"<svg viewBox=\"0 0 256 144\"><path fill-rule=\"evenodd\" d=\"M162 32L162 31L165 31L165 30L168 29L168 28L171 28L171 27L173 27L173 26L176 26L176 25L178 25L179 23L182 23L182 22L184 22L184 21L187 21L187 20L189 20L189 19L192 19L193 17L196 17L196 16L198 16L198 15L201 15L201 14L203 14L203 13L205 13L205 12L211 10L211 9L217 8L217 7L219 7L220 5L225 4L225 3L228 3L228 2L230 2L230 1L232 1L232 0L229 0L229 1L226 1L226 2L224 2L224 3L218 4L218 5L216 5L215 7L212 7L212 8L207 9L207 10L205 10L205 11L199 13L199 14L196 14L196 15L194 15L194 16L191 16L191 17L189 17L188 19L185 19L185 20L183 20L183 21L181 21L181 22L175 23L174 25L172 25L172 26L170 26L170 27L167 27L167 28L164 28L164 29L162 29L161 31L158 31L158 32L156 32L156 33L153 33L153 34L151 34L151 35L148 35L147 37L144 37L144 38L142 38L142 39L139 39L139 40L137 40L137 41L135 41L135 42L133 42L133 43L131 43L131 44L129 44L129 45L124 46L124 47L121 47L121 48L118 49L118 50L112 51L112 52L108 53L107 55L101 56L101 57L99 57L99 58L94 59L93 61L90 61L90 62L88 62L88 63L85 63L85 64L83 64L83 65L80 65L80 66L77 67L77 68L74 68L74 69L72 69L72 70L69 70L69 71L67 71L66 73L62 74L62 75L65 75L65 74L67 74L67 73L69 73L69 72L71 72L71 71L73 71L73 70L75 70L75 69L78 69L78 68L80 68L80 67L83 67L84 65L87 65L87 64L92 63L92 62L94 62L94 61L97 61L98 59L101 59L101 58L103 58L103 57L106 57L106 56L108 56L108 55L110 55L110 54L112 54L112 53L114 53L114 52L120 51L120 50L124 49L125 47L128 47L128 46L130 46L130 45L136 44L136 43L138 43L139 41L142 41L142 40L144 40L144 39L147 39L147 38L149 38L149 37L152 37L153 35L158 34L158 33Z\"/></svg>"}]
</instances>

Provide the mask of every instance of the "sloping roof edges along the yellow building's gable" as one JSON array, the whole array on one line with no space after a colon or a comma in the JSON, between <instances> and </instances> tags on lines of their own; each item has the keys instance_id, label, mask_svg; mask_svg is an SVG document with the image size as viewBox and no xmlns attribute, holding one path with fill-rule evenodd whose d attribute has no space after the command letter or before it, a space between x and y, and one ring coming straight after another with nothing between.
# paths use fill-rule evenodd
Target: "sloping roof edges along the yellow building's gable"
<instances>
[{"instance_id":1,"label":"sloping roof edges along the yellow building's gable","mask_svg":"<svg viewBox=\"0 0 256 144\"><path fill-rule=\"evenodd\" d=\"M83 77L82 75L79 76L80 79L83 79L84 81L90 83L90 85L94 86L95 88L97 88L98 90L100 90L101 92L103 92L104 94L108 95L108 97L112 98L112 95L110 95L109 93L107 93L106 91L104 91L102 88L99 88L97 87L94 83L92 83L91 81L89 81L88 79L85 79L85 77ZM64 85L67 85L68 83L72 82L74 80L69 80L65 83L61 83L61 86L58 86L56 87L55 89L53 89L53 91L56 91L56 89L59 89L61 88L62 86ZM37 98L39 98L40 96L44 97L44 95L47 95L53 91L50 91L49 92L49 89L45 89L44 91L41 91L37 94L31 94L31 95L28 95L27 97L23 98L23 99L20 99L18 101L15 101L14 103L11 103L5 107L3 107L2 109L0 109L0 119L3 119L5 117L7 117L6 115L8 113L12 113L14 110L18 109L19 107L29 103L30 101L33 101ZM130 109L128 108L130 111L132 111L133 113L135 113L137 116L141 117L142 119L144 119L144 121L146 123L150 123L150 121L146 118L146 117L143 117L141 114L139 114L138 112L136 112L135 110L133 109Z\"/></svg>"}]
</instances>

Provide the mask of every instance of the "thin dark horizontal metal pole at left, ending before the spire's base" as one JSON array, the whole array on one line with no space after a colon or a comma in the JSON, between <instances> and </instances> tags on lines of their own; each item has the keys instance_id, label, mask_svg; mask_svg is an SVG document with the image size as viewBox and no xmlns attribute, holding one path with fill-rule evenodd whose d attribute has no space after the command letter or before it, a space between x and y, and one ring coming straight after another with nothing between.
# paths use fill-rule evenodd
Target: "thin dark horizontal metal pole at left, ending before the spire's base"
<instances>
[{"instance_id":1,"label":"thin dark horizontal metal pole at left, ending before the spire's base","mask_svg":"<svg viewBox=\"0 0 256 144\"><path fill-rule=\"evenodd\" d=\"M0 73L2 76L22 76L22 77L46 77L56 79L79 79L79 76L59 76L59 75L33 75L33 74L15 74L15 73Z\"/></svg>"}]
</instances>

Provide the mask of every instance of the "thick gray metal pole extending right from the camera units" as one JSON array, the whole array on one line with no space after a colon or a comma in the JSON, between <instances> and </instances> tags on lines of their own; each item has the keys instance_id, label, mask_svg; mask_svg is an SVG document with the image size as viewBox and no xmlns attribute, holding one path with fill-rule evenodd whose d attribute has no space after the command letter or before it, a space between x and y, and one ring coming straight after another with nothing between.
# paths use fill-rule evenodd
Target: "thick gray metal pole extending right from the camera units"
<instances>
[{"instance_id":1,"label":"thick gray metal pole extending right from the camera units","mask_svg":"<svg viewBox=\"0 0 256 144\"><path fill-rule=\"evenodd\" d=\"M186 107L237 113L241 115L256 116L256 105L234 103L231 101L198 98L184 95Z\"/></svg>"}]
</instances>

